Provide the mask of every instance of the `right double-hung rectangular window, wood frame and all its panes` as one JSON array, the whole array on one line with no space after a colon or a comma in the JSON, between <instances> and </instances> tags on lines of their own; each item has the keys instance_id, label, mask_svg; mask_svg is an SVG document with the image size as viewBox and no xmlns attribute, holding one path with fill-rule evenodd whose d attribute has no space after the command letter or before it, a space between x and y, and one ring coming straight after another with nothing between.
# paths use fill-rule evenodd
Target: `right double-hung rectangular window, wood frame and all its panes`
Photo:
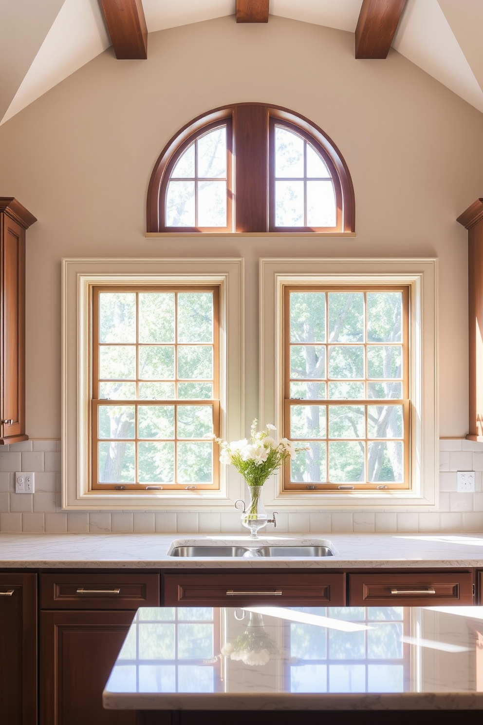
<instances>
[{"instance_id":1,"label":"right double-hung rectangular window, wood frame and all its panes","mask_svg":"<svg viewBox=\"0 0 483 725\"><path fill-rule=\"evenodd\" d=\"M285 489L408 488L408 287L285 287Z\"/></svg>"}]
</instances>

